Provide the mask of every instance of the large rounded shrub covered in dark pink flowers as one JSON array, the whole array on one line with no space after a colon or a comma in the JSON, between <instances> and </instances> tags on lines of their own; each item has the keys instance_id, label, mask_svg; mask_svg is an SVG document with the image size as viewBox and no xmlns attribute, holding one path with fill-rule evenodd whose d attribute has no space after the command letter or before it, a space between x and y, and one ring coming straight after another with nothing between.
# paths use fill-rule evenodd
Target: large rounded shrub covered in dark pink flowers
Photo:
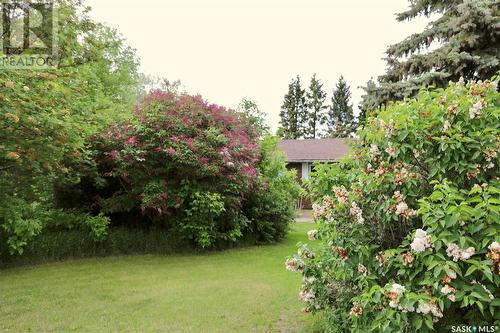
<instances>
[{"instance_id":1,"label":"large rounded shrub covered in dark pink flowers","mask_svg":"<svg viewBox=\"0 0 500 333\"><path fill-rule=\"evenodd\" d=\"M135 119L96 137L101 177L94 208L119 223L167 228L201 247L235 241L257 179L249 122L200 96L154 91Z\"/></svg>"}]
</instances>

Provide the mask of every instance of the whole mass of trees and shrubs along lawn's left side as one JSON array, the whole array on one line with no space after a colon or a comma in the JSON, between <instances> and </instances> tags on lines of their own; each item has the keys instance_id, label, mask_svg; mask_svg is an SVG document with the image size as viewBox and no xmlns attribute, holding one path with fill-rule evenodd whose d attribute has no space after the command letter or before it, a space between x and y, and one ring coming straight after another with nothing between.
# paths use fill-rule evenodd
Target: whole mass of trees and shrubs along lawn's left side
<instances>
[{"instance_id":1,"label":"whole mass of trees and shrubs along lawn's left side","mask_svg":"<svg viewBox=\"0 0 500 333\"><path fill-rule=\"evenodd\" d=\"M64 234L95 242L82 255L112 249L118 226L201 247L282 238L298 191L256 104L235 113L141 79L116 31L57 3L58 67L0 73L0 254L48 239L75 256Z\"/></svg>"}]
</instances>

